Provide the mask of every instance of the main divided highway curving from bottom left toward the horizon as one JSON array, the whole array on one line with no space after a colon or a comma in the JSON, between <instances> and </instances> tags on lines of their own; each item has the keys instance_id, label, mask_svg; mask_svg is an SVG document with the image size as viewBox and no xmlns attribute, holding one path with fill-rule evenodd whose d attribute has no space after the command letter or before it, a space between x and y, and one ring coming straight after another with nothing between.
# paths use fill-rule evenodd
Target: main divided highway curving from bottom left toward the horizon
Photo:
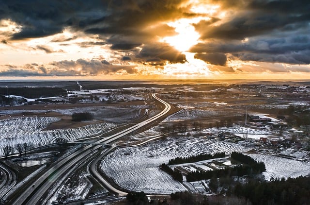
<instances>
[{"instance_id":1,"label":"main divided highway curving from bottom left toward the horizon","mask_svg":"<svg viewBox=\"0 0 310 205\"><path fill-rule=\"evenodd\" d=\"M156 93L157 94L157 93ZM156 96L156 94L153 94L153 98L156 99L157 101L161 102L162 104L165 105L165 108L163 109L163 111L161 111L160 113L158 113L157 115L155 115L154 117L148 119L148 120L144 120L140 123L137 123L119 133L116 133L114 135L111 135L109 137L106 137L104 139L100 139L98 141L96 141L96 143L111 143L117 139L119 139L120 137L123 137L155 120L158 120L160 117L164 116L165 114L167 114L170 109L171 109L171 105L163 100L161 100L160 98L158 98ZM44 174L42 174L35 182L35 187L28 187L22 194L20 194L20 196L16 199L16 201L13 204L16 205L36 205L36 204L41 204L40 203L40 199L43 196L46 196L45 193L51 188L51 186L54 183L57 183L57 181L60 180L61 176L70 171L72 169L72 167L74 165L76 165L77 163L81 163L85 160L87 160L88 156L93 152L93 149L99 149L101 148L100 145L96 145L96 146L91 146L88 145L80 150L78 150L77 152L69 155L68 157L62 159L60 162L58 162L56 165L54 165L53 167L49 168L49 170L47 170ZM108 184L108 183L107 183ZM121 193L119 190L115 191L121 195L126 194L125 192Z\"/></svg>"}]
</instances>

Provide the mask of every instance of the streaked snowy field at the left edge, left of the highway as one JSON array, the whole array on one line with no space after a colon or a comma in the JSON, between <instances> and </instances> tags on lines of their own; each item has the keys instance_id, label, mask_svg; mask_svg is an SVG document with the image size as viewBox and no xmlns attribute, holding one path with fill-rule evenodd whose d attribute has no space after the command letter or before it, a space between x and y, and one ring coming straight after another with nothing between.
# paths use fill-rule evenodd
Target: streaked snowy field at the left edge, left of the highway
<instances>
[{"instance_id":1,"label":"streaked snowy field at the left edge, left of the highway","mask_svg":"<svg viewBox=\"0 0 310 205\"><path fill-rule=\"evenodd\" d=\"M114 124L93 124L73 129L58 129L42 131L48 124L60 120L54 117L27 117L0 120L0 155L4 146L15 148L18 143L32 144L34 147L56 143L56 138L62 137L68 141L94 135Z\"/></svg>"}]
</instances>

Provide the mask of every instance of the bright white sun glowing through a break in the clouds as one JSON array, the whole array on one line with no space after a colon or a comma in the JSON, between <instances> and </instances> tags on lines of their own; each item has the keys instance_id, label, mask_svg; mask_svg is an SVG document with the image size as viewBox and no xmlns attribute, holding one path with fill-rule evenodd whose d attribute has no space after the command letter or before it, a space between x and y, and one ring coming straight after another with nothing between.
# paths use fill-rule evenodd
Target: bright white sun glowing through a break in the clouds
<instances>
[{"instance_id":1,"label":"bright white sun glowing through a break in the clouds","mask_svg":"<svg viewBox=\"0 0 310 205\"><path fill-rule=\"evenodd\" d=\"M175 28L175 32L178 33L174 36L167 36L161 39L161 42L166 42L173 46L178 51L188 51L190 47L196 45L199 41L200 34L195 31L192 25L198 22L200 19L187 19L182 18L177 21L167 23L168 26Z\"/></svg>"}]
</instances>

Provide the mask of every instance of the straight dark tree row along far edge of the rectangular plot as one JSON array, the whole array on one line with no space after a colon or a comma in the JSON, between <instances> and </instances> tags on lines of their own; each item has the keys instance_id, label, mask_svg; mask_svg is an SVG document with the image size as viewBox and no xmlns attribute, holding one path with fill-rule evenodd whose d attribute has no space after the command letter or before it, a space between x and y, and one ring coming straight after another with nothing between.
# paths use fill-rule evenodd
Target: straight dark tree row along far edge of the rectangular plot
<instances>
[{"instance_id":1,"label":"straight dark tree row along far edge of the rectangular plot","mask_svg":"<svg viewBox=\"0 0 310 205\"><path fill-rule=\"evenodd\" d=\"M195 156L187 156L187 157L175 157L173 159L170 159L168 164L183 164L183 163L191 163L191 162L198 162L202 160L207 160L207 159L214 159L214 158L221 158L225 157L225 153L216 153L216 154L198 154Z\"/></svg>"}]
</instances>

